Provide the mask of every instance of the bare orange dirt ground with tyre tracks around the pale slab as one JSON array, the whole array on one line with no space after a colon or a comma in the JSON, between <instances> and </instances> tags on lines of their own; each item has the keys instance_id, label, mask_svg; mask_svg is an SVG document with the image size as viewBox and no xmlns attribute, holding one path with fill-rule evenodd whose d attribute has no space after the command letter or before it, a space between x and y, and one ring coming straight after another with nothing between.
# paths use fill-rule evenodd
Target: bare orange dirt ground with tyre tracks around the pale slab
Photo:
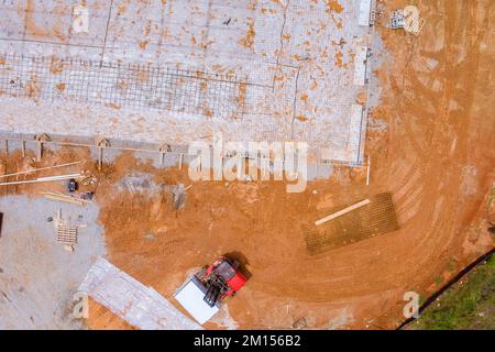
<instances>
[{"instance_id":1,"label":"bare orange dirt ground with tyre tracks around the pale slab","mask_svg":"<svg viewBox=\"0 0 495 352\"><path fill-rule=\"evenodd\" d=\"M384 90L373 117L387 129L367 133L369 187L364 169L349 168L310 183L304 194L287 194L274 182L204 182L187 190L185 208L175 211L166 195L124 194L114 184L144 170L158 183L187 186L187 170L158 170L124 153L106 165L96 189L109 260L174 301L174 290L191 268L234 253L252 275L227 300L239 328L290 328L305 317L308 328L392 329L404 320L406 292L429 296L492 249L494 239L473 232L471 224L488 217L482 202L495 179L490 32L495 4L413 2L426 20L418 37L380 25L393 58L377 72ZM384 19L407 3L386 4ZM435 67L431 59L438 62ZM88 157L84 150L74 153L79 156L64 161ZM385 191L394 196L400 230L307 254L300 224L317 220L318 209ZM129 328L95 304L87 322Z\"/></svg>"}]
</instances>

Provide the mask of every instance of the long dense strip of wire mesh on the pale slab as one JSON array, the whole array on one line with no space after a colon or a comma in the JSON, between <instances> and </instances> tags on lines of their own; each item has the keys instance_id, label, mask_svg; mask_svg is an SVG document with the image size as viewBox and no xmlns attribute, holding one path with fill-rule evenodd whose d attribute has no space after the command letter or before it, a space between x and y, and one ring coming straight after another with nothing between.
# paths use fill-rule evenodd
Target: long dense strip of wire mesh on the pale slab
<instances>
[{"instance_id":1,"label":"long dense strip of wire mesh on the pale slab","mask_svg":"<svg viewBox=\"0 0 495 352\"><path fill-rule=\"evenodd\" d=\"M229 118L244 111L245 80L151 65L0 56L0 94L135 110Z\"/></svg>"}]
</instances>

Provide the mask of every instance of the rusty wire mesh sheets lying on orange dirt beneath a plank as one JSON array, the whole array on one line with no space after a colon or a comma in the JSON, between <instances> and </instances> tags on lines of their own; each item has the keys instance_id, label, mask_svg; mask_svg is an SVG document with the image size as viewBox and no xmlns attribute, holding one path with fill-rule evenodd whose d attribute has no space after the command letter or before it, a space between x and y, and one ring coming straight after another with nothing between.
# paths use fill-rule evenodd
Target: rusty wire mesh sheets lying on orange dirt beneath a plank
<instances>
[{"instance_id":1,"label":"rusty wire mesh sheets lying on orange dirt beneath a plank","mask_svg":"<svg viewBox=\"0 0 495 352\"><path fill-rule=\"evenodd\" d=\"M346 208L329 209L326 215ZM378 234L398 230L397 216L392 195L380 194L370 198L370 204L348 212L319 227L302 226L309 254L362 241Z\"/></svg>"}]
</instances>

